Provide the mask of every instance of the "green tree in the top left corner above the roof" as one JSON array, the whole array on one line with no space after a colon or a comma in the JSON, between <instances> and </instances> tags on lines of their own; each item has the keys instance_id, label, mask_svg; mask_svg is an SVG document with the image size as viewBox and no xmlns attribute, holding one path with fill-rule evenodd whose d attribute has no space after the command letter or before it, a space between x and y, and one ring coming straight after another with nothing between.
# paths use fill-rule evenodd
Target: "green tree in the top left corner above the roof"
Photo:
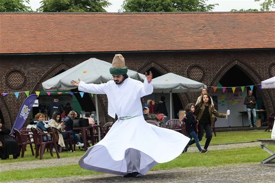
<instances>
[{"instance_id":1,"label":"green tree in the top left corner above the roof","mask_svg":"<svg viewBox=\"0 0 275 183\"><path fill-rule=\"evenodd\" d=\"M29 0L0 0L0 12L32 12Z\"/></svg>"}]
</instances>

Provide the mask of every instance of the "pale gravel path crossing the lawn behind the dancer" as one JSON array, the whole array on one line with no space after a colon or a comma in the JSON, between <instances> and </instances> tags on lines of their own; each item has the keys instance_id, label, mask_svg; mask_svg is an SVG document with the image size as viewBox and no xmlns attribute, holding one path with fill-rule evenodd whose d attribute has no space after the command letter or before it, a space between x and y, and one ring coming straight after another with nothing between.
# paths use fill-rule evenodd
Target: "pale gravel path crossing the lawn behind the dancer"
<instances>
[{"instance_id":1,"label":"pale gravel path crossing the lawn behind the dancer","mask_svg":"<svg viewBox=\"0 0 275 183\"><path fill-rule=\"evenodd\" d=\"M260 142L248 142L248 143L236 143L236 144L224 144L224 145L212 145L208 147L208 150L227 150L236 148L256 147L260 148ZM198 151L197 147L190 147L188 152ZM62 154L61 154L62 156ZM0 172L17 169L30 169L39 167L52 167L52 166L65 166L78 164L79 157L69 157L60 159L29 161L29 162L16 162L16 163L2 163L0 164ZM5 167L5 168L1 168Z\"/></svg>"}]
</instances>

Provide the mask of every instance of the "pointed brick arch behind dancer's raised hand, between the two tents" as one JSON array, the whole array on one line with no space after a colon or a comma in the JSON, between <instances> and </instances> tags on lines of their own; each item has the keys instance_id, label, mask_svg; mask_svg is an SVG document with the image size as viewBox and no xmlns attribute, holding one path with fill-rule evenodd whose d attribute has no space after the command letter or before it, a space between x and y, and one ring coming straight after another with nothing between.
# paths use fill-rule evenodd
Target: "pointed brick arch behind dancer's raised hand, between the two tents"
<instances>
[{"instance_id":1,"label":"pointed brick arch behind dancer's raised hand, between the two tents","mask_svg":"<svg viewBox=\"0 0 275 183\"><path fill-rule=\"evenodd\" d=\"M141 67L139 67L139 69L137 69L137 72L145 73L151 67L155 68L161 74L167 74L171 72L169 68L163 66L162 64L160 64L158 61L155 61L155 60L149 60L148 62L145 62ZM186 93L178 93L177 95L184 108L184 106L189 103L188 96L186 95Z\"/></svg>"}]
</instances>

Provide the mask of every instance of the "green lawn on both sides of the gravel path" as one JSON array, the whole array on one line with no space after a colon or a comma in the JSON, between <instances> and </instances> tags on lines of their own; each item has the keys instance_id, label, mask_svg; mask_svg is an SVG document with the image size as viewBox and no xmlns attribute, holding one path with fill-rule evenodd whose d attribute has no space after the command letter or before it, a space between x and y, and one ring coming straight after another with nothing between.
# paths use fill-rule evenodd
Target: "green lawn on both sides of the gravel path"
<instances>
[{"instance_id":1,"label":"green lawn on both sides of the gravel path","mask_svg":"<svg viewBox=\"0 0 275 183\"><path fill-rule=\"evenodd\" d=\"M226 144L226 143L240 143L240 142L251 142L257 141L261 138L270 138L271 133L264 132L264 130L253 130L253 131L238 131L238 132L218 132L217 137L213 136L210 145L214 144ZM204 140L200 143L204 144ZM275 146L269 146L269 148L275 151ZM82 156L84 151L77 149L76 152L62 152L61 158L64 157L77 157ZM162 170L162 169L173 169L182 167L193 167L193 166L220 166L220 165L233 165L233 164L247 164L247 163L260 163L263 159L267 158L269 154L258 147L249 147L241 149L230 149L230 150L213 150L206 154L199 152L188 152L181 154L176 159L163 164L158 164L151 168L151 170ZM43 159L55 159L56 154L53 157L50 156L49 152L45 152ZM39 161L35 159L31 154L30 148L25 153L24 158L18 158L16 160L2 160L0 163L13 163L26 161ZM2 167L1 167L2 168ZM49 173L51 172L51 173ZM4 181L19 181L19 180L30 180L30 179L42 179L42 178L57 178L57 177L71 177L71 176L84 176L102 174L100 172L93 172L80 168L78 165L69 166L53 166L45 168L34 168L26 170L11 170L0 172L0 182Z\"/></svg>"}]
</instances>

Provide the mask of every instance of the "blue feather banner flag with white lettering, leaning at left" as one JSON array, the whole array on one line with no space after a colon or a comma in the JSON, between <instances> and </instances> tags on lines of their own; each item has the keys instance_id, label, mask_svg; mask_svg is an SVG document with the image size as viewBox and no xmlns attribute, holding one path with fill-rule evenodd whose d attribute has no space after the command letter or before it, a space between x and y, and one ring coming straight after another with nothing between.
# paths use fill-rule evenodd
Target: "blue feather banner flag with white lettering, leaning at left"
<instances>
[{"instance_id":1,"label":"blue feather banner flag with white lettering, leaning at left","mask_svg":"<svg viewBox=\"0 0 275 183\"><path fill-rule=\"evenodd\" d=\"M16 120L14 122L14 126L10 134L14 133L14 129L21 130L23 128L25 121L31 112L31 109L34 105L34 101L36 100L36 98L37 98L37 95L33 94L24 100L17 114Z\"/></svg>"}]
</instances>

